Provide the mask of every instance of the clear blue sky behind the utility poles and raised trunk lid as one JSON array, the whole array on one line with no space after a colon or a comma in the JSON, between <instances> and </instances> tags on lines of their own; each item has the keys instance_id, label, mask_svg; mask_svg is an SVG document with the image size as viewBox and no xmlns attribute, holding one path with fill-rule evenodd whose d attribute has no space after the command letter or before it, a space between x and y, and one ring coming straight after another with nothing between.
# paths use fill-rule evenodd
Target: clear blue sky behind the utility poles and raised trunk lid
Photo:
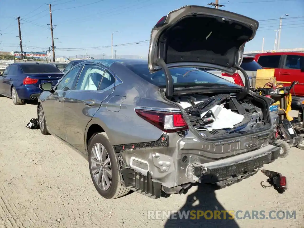
<instances>
[{"instance_id":1,"label":"clear blue sky behind the utility poles and raised trunk lid","mask_svg":"<svg viewBox=\"0 0 304 228\"><path fill-rule=\"evenodd\" d=\"M171 10L184 5L203 5L212 0L1 0L0 1L0 48L2 51L20 51L18 22L20 16L23 51L48 50L51 46L49 30L49 6L52 4L56 56L88 54L111 54L111 34L114 45L149 40L155 23ZM213 1L214 2L214 1ZM304 0L220 0L221 9L249 16L260 21L254 40L247 43L245 50L274 48L275 29L279 18L283 19L281 48L304 47ZM79 7L78 7L79 6ZM38 9L37 9L38 8ZM301 17L302 16L302 17ZM298 18L294 18L298 17ZM277 20L267 20L277 19ZM266 20L266 21L261 21ZM97 48L90 48L97 47ZM73 49L74 48L74 49ZM78 48L78 49L77 49ZM147 56L148 43L114 47L117 54Z\"/></svg>"}]
</instances>

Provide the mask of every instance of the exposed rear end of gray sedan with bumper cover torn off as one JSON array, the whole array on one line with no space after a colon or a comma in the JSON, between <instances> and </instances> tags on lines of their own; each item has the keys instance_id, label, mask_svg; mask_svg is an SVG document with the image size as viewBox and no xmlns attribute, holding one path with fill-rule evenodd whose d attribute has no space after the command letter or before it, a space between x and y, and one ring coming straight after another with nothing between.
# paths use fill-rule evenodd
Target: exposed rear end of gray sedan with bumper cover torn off
<instances>
[{"instance_id":1,"label":"exposed rear end of gray sedan with bumper cover torn off","mask_svg":"<svg viewBox=\"0 0 304 228\"><path fill-rule=\"evenodd\" d=\"M257 143L261 141L258 140L259 149L236 155L230 154L236 146L228 143L224 148L230 147L230 153L226 153L229 157L206 159L202 149L192 148L190 153L183 153L181 145L186 144L183 139L179 140L180 146L171 147L174 137L179 136L164 134L149 145L116 146L123 185L154 199L159 198L162 191L167 194L184 192L193 183L215 183L223 188L255 174L258 168L277 159L280 151L269 138L266 146Z\"/></svg>"}]
</instances>

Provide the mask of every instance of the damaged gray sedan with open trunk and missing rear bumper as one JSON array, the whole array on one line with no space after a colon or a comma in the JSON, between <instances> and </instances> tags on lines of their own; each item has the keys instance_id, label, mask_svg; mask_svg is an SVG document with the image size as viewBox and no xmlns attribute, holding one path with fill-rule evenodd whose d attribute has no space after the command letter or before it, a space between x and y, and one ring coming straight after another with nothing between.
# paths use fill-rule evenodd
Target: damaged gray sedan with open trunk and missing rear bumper
<instances>
[{"instance_id":1,"label":"damaged gray sedan with open trunk and missing rear bumper","mask_svg":"<svg viewBox=\"0 0 304 228\"><path fill-rule=\"evenodd\" d=\"M106 199L130 190L159 198L193 183L229 186L278 158L273 100L249 91L240 67L258 22L187 5L151 32L148 61L89 60L38 100L43 134L88 158ZM244 87L198 68L245 76Z\"/></svg>"}]
</instances>

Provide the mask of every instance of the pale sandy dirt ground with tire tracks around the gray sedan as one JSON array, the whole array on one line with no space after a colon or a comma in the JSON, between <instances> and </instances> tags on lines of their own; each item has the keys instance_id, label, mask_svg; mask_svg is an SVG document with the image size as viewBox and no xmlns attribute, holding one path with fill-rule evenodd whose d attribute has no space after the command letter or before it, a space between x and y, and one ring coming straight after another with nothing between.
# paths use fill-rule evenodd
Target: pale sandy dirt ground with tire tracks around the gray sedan
<instances>
[{"instance_id":1,"label":"pale sandy dirt ground with tire tracks around the gray sedan","mask_svg":"<svg viewBox=\"0 0 304 228\"><path fill-rule=\"evenodd\" d=\"M131 193L105 200L95 190L88 162L40 130L25 128L36 105L13 105L0 97L0 227L304 227L304 152L292 148L266 168L288 178L278 194L262 188L258 172L228 188L192 187L187 195L150 199ZM148 210L296 211L296 219L148 219ZM274 214L275 215L275 214ZM243 215L242 215L243 216Z\"/></svg>"}]
</instances>

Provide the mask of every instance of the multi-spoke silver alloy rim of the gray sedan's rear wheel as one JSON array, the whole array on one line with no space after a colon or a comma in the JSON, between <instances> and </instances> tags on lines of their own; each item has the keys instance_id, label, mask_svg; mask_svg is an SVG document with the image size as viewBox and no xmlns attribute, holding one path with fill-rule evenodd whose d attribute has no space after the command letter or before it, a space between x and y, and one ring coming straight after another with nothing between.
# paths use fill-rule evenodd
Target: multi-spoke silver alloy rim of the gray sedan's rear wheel
<instances>
[{"instance_id":1,"label":"multi-spoke silver alloy rim of the gray sedan's rear wheel","mask_svg":"<svg viewBox=\"0 0 304 228\"><path fill-rule=\"evenodd\" d=\"M98 187L106 191L112 181L110 157L101 143L95 143L90 156L91 171Z\"/></svg>"}]
</instances>

